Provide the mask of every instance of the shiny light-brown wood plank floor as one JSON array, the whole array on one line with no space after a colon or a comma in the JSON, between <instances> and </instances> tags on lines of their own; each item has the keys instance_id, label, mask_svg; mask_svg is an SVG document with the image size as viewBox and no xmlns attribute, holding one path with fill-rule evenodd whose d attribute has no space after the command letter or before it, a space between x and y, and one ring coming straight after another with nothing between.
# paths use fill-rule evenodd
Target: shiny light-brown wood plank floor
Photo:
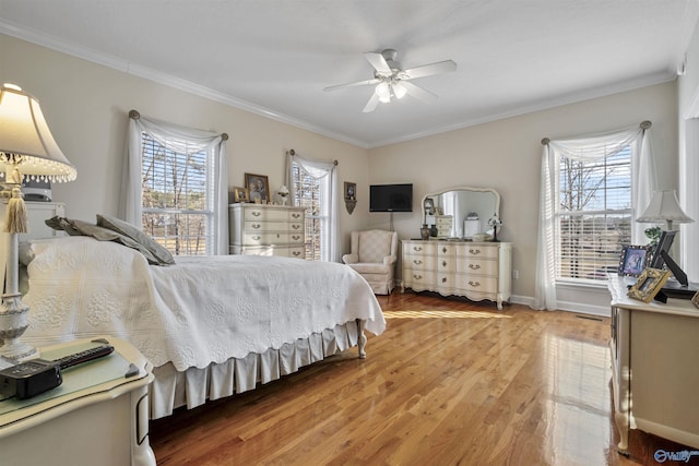
<instances>
[{"instance_id":1,"label":"shiny light-brown wood plank floor","mask_svg":"<svg viewBox=\"0 0 699 466\"><path fill-rule=\"evenodd\" d=\"M615 449L608 319L394 291L388 328L253 392L151 422L158 465L629 465ZM691 449L689 449L691 450Z\"/></svg>"}]
</instances>

